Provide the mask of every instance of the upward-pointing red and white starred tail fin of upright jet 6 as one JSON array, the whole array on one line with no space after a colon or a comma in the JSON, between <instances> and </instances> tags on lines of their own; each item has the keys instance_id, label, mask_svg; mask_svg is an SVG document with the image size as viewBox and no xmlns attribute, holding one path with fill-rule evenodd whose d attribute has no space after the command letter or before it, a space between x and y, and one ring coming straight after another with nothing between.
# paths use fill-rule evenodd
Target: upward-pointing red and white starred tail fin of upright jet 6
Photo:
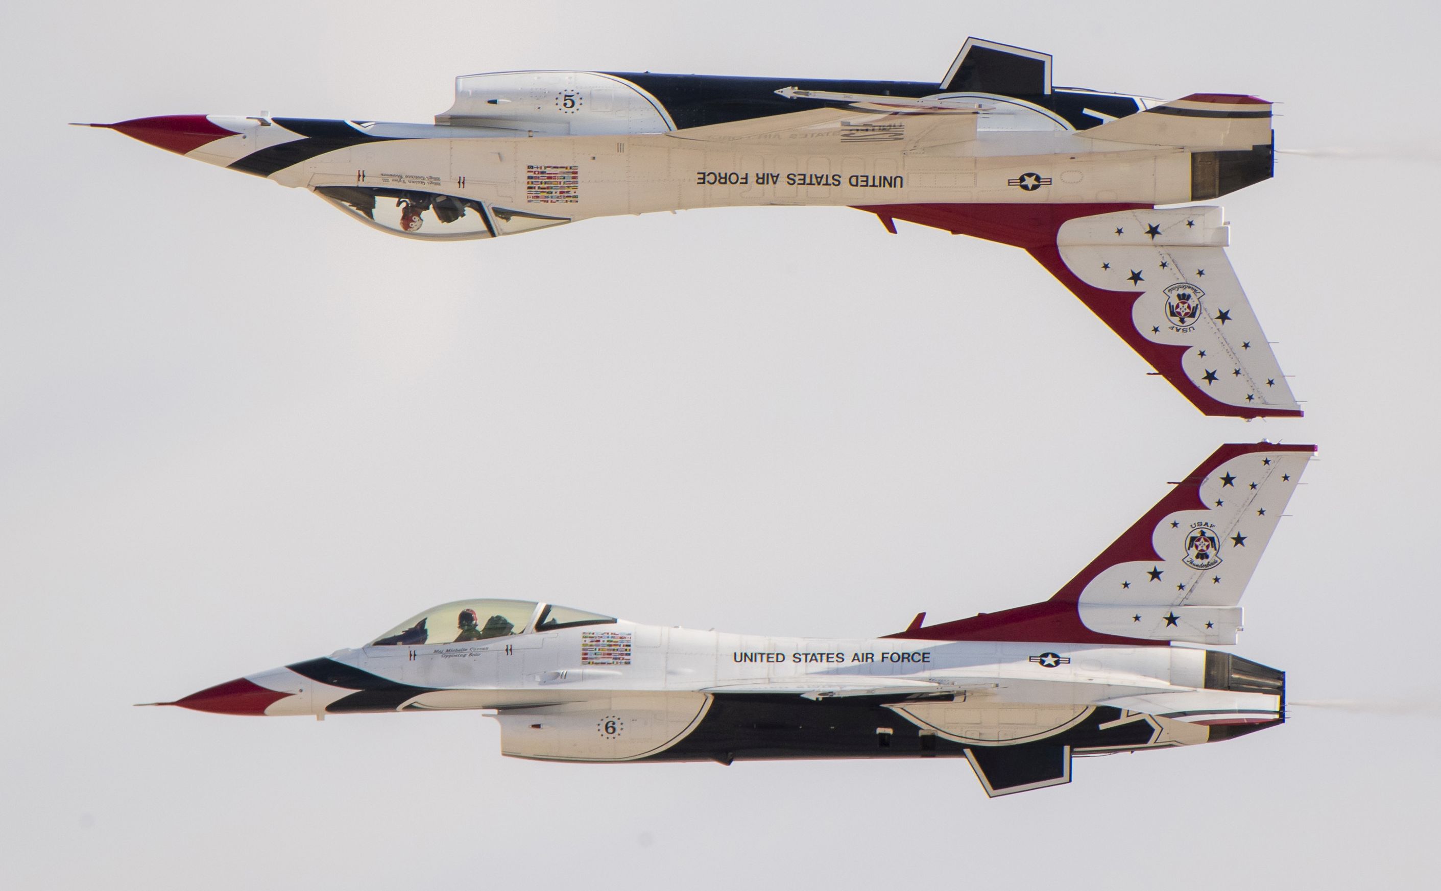
<instances>
[{"instance_id":1,"label":"upward-pointing red and white starred tail fin of upright jet 6","mask_svg":"<svg viewBox=\"0 0 1441 891\"><path fill-rule=\"evenodd\" d=\"M1223 445L1049 600L892 636L1235 643L1236 603L1314 452Z\"/></svg>"}]
</instances>

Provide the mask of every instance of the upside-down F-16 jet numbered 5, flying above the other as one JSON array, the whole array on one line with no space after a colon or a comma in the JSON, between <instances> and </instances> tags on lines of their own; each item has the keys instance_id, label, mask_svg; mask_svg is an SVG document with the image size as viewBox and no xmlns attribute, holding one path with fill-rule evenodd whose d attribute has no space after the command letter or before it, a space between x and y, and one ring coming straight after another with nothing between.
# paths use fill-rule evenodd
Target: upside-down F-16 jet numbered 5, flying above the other
<instances>
[{"instance_id":1,"label":"upside-down F-16 jet numbered 5, flying above the other","mask_svg":"<svg viewBox=\"0 0 1441 891\"><path fill-rule=\"evenodd\" d=\"M1221 207L1271 176L1271 104L1055 88L967 40L938 83L537 71L455 81L435 124L171 115L118 130L310 189L406 238L824 204L1023 248L1206 415L1298 416L1226 261Z\"/></svg>"}]
</instances>

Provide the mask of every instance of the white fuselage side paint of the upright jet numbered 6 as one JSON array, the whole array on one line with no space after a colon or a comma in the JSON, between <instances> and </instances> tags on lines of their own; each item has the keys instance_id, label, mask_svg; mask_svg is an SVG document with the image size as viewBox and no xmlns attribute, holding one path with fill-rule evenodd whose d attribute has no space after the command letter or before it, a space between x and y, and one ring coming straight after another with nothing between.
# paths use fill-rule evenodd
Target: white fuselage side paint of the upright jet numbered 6
<instances>
[{"instance_id":1,"label":"white fuselage side paint of the upright jet numbered 6","mask_svg":"<svg viewBox=\"0 0 1441 891\"><path fill-rule=\"evenodd\" d=\"M621 658L591 658L595 635L618 635ZM954 695L977 705L1115 705L1189 721L1280 711L1280 698L1203 687L1206 651L901 638L771 638L618 622L468 643L365 646L329 658L418 688L406 710L530 708L623 695ZM293 694L267 714L326 714L354 692L288 668L249 681ZM1179 713L1186 713L1180 715Z\"/></svg>"}]
</instances>

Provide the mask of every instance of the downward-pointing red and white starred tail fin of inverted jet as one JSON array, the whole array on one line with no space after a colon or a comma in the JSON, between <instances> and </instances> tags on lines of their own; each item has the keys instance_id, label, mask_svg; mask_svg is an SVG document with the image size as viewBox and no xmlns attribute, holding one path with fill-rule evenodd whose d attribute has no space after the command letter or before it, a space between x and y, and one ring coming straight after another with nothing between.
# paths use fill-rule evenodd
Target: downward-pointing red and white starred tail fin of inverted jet
<instances>
[{"instance_id":1,"label":"downward-pointing red and white starred tail fin of inverted jet","mask_svg":"<svg viewBox=\"0 0 1441 891\"><path fill-rule=\"evenodd\" d=\"M1206 415L1298 417L1225 248L1221 207L889 204L860 207L1025 248ZM1092 213L1111 210L1110 213Z\"/></svg>"}]
</instances>

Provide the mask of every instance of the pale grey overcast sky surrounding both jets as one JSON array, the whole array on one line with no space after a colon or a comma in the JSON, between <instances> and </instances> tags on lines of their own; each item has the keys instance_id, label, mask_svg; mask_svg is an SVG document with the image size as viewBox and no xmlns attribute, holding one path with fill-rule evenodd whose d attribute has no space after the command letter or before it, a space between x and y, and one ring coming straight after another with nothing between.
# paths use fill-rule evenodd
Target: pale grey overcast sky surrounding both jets
<instances>
[{"instance_id":1,"label":"pale grey overcast sky surrounding both jets","mask_svg":"<svg viewBox=\"0 0 1441 891\"><path fill-rule=\"evenodd\" d=\"M14 888L1428 887L1432 4L10 3L0 217L0 862ZM65 127L428 121L575 68L1281 102L1221 203L1306 403L1206 419L1020 250L836 209L488 243ZM1321 461L1235 652L1294 710L987 800L960 761L501 759L474 713L138 710L465 596L863 636L1048 597L1216 445Z\"/></svg>"}]
</instances>

